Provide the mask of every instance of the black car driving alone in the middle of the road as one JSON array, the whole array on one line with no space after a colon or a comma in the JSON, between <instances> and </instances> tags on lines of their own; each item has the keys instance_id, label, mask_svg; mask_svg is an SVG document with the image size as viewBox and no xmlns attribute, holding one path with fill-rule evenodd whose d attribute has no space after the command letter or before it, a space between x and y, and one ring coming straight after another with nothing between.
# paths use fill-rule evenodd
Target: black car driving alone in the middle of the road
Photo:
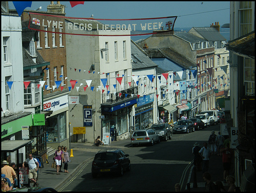
<instances>
[{"instance_id":1,"label":"black car driving alone in the middle of the road","mask_svg":"<svg viewBox=\"0 0 256 193\"><path fill-rule=\"evenodd\" d=\"M92 163L92 176L96 178L98 174L115 173L123 175L124 170L130 171L131 162L121 149L106 149L99 151Z\"/></svg>"}]
</instances>

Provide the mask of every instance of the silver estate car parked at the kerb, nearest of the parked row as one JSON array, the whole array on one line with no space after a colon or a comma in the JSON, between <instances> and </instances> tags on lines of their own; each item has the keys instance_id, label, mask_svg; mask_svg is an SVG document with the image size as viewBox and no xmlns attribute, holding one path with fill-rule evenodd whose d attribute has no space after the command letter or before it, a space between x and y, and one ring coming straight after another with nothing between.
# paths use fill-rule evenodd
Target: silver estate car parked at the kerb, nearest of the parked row
<instances>
[{"instance_id":1,"label":"silver estate car parked at the kerb, nearest of the parked row","mask_svg":"<svg viewBox=\"0 0 256 193\"><path fill-rule=\"evenodd\" d=\"M135 131L131 137L131 144L136 146L143 143L151 145L160 143L159 135L152 129Z\"/></svg>"}]
</instances>

